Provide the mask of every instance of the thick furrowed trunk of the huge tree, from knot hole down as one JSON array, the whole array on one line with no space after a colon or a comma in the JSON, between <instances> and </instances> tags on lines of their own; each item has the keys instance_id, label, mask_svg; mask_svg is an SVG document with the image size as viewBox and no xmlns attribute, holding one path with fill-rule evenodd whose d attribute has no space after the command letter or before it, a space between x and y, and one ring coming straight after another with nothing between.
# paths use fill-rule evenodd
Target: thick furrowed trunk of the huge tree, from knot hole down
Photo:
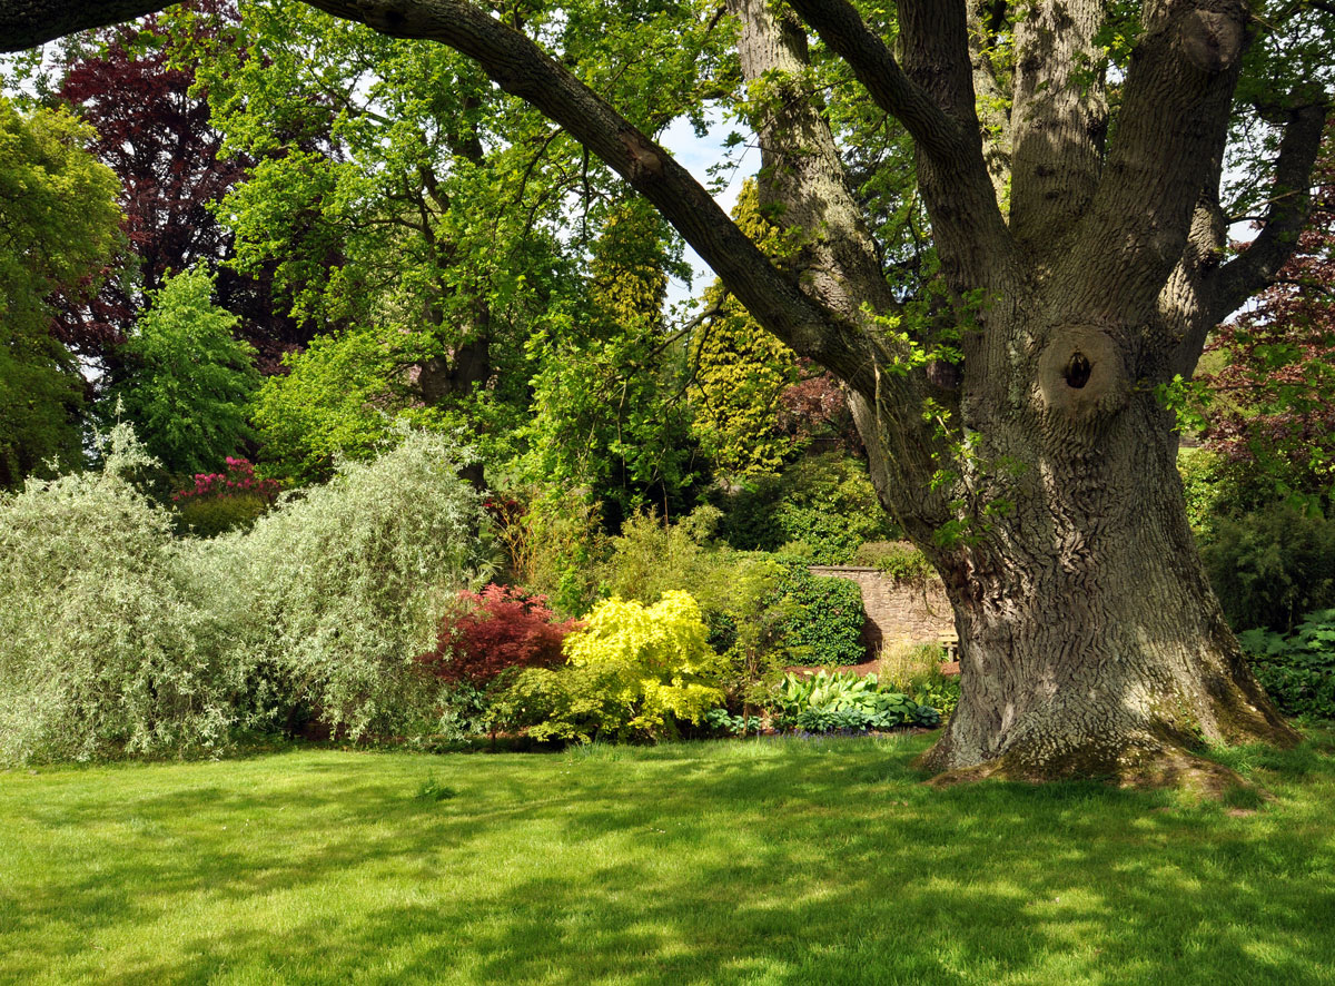
<instances>
[{"instance_id":1,"label":"thick furrowed trunk of the huge tree, from knot hole down","mask_svg":"<svg viewBox=\"0 0 1335 986\"><path fill-rule=\"evenodd\" d=\"M955 607L961 700L924 763L1153 782L1204 743L1296 740L1206 580L1171 416L1104 371L1120 362L1111 349L1088 369L1072 361L1096 349L1080 334L1055 343L1060 359L1040 355L1020 409L973 409L991 425L977 520L953 550L929 545Z\"/></svg>"}]
</instances>

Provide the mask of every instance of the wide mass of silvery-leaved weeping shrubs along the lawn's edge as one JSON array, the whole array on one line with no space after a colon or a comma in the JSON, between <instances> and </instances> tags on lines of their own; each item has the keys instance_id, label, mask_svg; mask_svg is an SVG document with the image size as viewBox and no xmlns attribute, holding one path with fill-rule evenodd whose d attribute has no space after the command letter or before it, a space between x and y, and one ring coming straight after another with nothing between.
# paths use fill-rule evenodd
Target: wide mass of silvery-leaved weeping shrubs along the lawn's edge
<instances>
[{"instance_id":1,"label":"wide mass of silvery-leaved weeping shrubs along the lawn's edge","mask_svg":"<svg viewBox=\"0 0 1335 986\"><path fill-rule=\"evenodd\" d=\"M0 760L210 754L306 707L340 735L431 728L415 671L487 520L441 436L405 434L246 533L174 540L112 432L100 473L0 494Z\"/></svg>"}]
</instances>

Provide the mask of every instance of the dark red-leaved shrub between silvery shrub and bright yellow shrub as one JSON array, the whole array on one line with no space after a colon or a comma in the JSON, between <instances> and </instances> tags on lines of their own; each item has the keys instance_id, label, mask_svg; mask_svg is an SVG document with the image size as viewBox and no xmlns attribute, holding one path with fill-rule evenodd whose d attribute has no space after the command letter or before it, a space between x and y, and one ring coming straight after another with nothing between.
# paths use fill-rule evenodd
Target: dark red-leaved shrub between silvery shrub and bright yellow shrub
<instances>
[{"instance_id":1,"label":"dark red-leaved shrub between silvery shrub and bright yellow shrub","mask_svg":"<svg viewBox=\"0 0 1335 986\"><path fill-rule=\"evenodd\" d=\"M561 663L561 644L575 620L553 621L547 597L523 589L489 585L461 592L441 620L435 649L417 660L445 681L483 688L502 671Z\"/></svg>"}]
</instances>

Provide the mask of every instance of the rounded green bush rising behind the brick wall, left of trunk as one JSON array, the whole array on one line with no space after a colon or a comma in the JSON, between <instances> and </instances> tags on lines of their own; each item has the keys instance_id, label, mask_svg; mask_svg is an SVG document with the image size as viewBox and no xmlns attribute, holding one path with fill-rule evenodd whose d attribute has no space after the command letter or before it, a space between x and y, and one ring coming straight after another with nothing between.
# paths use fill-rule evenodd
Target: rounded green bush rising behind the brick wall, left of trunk
<instances>
[{"instance_id":1,"label":"rounded green bush rising behind the brick wall, left of trunk","mask_svg":"<svg viewBox=\"0 0 1335 986\"><path fill-rule=\"evenodd\" d=\"M894 534L866 466L837 452L802 458L721 506L720 534L733 548L773 552L790 545L821 565L844 564L862 542Z\"/></svg>"}]
</instances>

